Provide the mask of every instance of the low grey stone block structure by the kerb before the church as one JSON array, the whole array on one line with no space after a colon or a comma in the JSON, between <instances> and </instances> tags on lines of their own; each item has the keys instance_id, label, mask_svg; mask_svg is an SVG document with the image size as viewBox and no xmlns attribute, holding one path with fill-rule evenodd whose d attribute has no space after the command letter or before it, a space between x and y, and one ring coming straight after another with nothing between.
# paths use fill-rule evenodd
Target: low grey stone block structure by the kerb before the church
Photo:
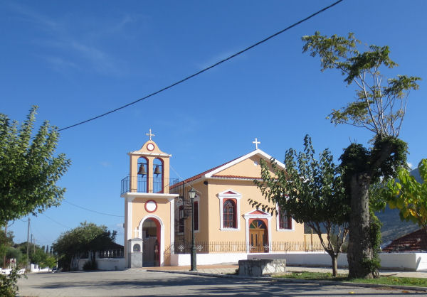
<instances>
[{"instance_id":1,"label":"low grey stone block structure by the kerb before the church","mask_svg":"<svg viewBox=\"0 0 427 297\"><path fill-rule=\"evenodd\" d=\"M286 260L259 259L239 260L238 275L265 276L286 272Z\"/></svg>"}]
</instances>

